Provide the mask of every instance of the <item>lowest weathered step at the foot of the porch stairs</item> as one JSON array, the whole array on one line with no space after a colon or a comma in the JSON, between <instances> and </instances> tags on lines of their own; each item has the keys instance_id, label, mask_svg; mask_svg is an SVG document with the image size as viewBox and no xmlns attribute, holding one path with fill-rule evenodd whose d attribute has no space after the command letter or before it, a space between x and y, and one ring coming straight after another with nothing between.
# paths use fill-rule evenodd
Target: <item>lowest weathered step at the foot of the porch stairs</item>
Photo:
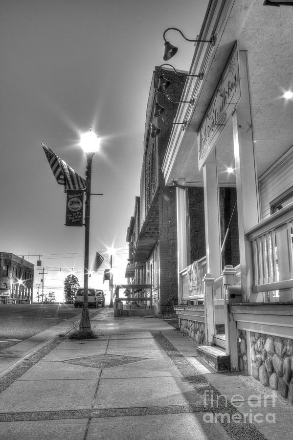
<instances>
[{"instance_id":1,"label":"lowest weathered step at the foot of the porch stairs","mask_svg":"<svg viewBox=\"0 0 293 440\"><path fill-rule=\"evenodd\" d=\"M230 371L230 356L220 347L199 345L196 348L197 355L206 364L212 367L216 373Z\"/></svg>"}]
</instances>

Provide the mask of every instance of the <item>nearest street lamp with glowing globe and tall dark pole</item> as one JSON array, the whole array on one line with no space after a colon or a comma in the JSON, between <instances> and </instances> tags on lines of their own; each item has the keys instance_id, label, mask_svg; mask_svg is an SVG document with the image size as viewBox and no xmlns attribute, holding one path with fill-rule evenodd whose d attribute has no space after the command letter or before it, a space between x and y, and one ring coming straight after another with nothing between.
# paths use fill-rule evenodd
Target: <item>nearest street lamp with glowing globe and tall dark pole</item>
<instances>
[{"instance_id":1,"label":"nearest street lamp with glowing globe and tall dark pole","mask_svg":"<svg viewBox=\"0 0 293 440\"><path fill-rule=\"evenodd\" d=\"M88 303L88 289L89 289L89 248L90 248L90 181L91 181L91 163L93 155L98 151L100 141L98 136L91 131L81 136L80 145L87 156L87 170L86 170L86 213L85 213L85 264L84 264L84 297L81 321L79 328L81 330L90 330L89 318L89 303Z\"/></svg>"}]
</instances>

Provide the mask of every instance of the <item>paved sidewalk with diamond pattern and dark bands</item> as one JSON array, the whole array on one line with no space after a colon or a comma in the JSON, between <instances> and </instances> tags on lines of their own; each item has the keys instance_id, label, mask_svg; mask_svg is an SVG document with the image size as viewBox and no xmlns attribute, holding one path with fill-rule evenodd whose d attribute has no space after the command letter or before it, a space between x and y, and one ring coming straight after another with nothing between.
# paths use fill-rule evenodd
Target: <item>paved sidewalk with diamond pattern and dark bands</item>
<instances>
[{"instance_id":1,"label":"paved sidewalk with diamond pattern and dark bands","mask_svg":"<svg viewBox=\"0 0 293 440\"><path fill-rule=\"evenodd\" d=\"M164 321L114 318L106 307L90 322L99 339L51 335L6 366L0 439L293 438L291 405L250 377L212 373L193 341Z\"/></svg>"}]
</instances>

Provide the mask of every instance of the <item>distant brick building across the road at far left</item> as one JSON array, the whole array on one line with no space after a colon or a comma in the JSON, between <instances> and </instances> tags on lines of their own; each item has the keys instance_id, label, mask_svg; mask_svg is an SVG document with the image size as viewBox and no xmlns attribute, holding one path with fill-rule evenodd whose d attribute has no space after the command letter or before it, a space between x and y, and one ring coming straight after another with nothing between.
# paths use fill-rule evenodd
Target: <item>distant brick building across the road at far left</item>
<instances>
[{"instance_id":1,"label":"distant brick building across the road at far left","mask_svg":"<svg viewBox=\"0 0 293 440\"><path fill-rule=\"evenodd\" d=\"M32 303L34 264L17 255L0 252L0 300Z\"/></svg>"}]
</instances>

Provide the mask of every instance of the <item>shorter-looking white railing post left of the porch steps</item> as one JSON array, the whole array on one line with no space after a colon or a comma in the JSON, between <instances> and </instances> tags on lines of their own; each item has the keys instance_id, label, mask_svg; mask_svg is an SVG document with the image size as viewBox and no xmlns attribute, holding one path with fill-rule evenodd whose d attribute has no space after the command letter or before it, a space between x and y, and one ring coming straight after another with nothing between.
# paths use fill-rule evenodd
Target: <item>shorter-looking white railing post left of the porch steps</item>
<instances>
[{"instance_id":1,"label":"shorter-looking white railing post left of the porch steps","mask_svg":"<svg viewBox=\"0 0 293 440\"><path fill-rule=\"evenodd\" d=\"M205 345L213 345L213 336L216 333L214 279L211 273L206 273L203 277Z\"/></svg>"}]
</instances>

